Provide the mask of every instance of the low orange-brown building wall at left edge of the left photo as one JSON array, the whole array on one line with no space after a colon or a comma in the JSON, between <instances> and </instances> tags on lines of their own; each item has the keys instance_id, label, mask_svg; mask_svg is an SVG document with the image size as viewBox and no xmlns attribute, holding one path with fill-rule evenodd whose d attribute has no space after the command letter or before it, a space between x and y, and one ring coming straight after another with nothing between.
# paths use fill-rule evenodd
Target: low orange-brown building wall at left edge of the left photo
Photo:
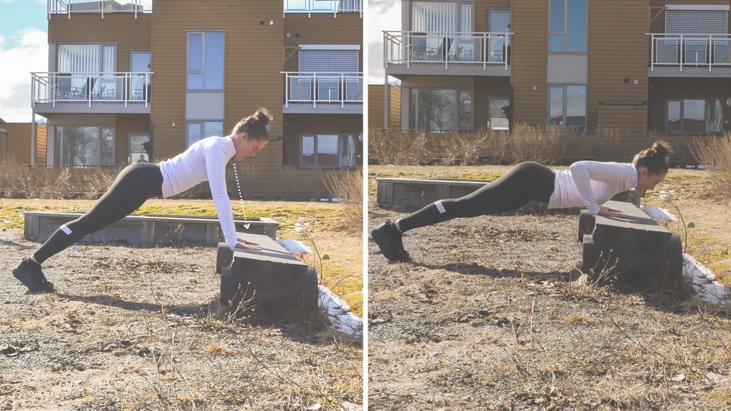
<instances>
[{"instance_id":1,"label":"low orange-brown building wall at left edge of the left photo","mask_svg":"<svg viewBox=\"0 0 731 411\"><path fill-rule=\"evenodd\" d=\"M31 124L30 123L3 123L0 126L8 133L7 159L18 165L31 164ZM4 136L0 135L0 161L5 158ZM45 124L36 124L36 164L45 164L46 157L46 127Z\"/></svg>"}]
</instances>

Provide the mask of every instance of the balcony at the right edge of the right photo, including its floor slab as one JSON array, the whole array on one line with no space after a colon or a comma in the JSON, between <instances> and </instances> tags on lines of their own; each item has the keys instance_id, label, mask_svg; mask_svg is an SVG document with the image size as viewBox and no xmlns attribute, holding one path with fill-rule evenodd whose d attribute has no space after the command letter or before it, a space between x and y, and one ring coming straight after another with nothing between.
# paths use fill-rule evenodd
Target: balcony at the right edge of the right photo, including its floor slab
<instances>
[{"instance_id":1,"label":"balcony at the right edge of the right photo, including its floor slab","mask_svg":"<svg viewBox=\"0 0 731 411\"><path fill-rule=\"evenodd\" d=\"M651 34L650 77L731 76L729 34Z\"/></svg>"}]
</instances>

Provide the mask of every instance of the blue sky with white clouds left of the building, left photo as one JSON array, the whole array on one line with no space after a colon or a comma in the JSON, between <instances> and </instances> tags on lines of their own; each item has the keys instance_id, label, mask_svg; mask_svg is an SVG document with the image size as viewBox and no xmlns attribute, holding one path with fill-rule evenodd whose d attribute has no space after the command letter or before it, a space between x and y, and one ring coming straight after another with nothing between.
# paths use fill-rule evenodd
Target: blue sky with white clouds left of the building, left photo
<instances>
[{"instance_id":1,"label":"blue sky with white clouds left of the building, left photo","mask_svg":"<svg viewBox=\"0 0 731 411\"><path fill-rule=\"evenodd\" d=\"M0 118L8 123L31 121L30 73L48 71L46 10L46 0L0 0Z\"/></svg>"}]
</instances>

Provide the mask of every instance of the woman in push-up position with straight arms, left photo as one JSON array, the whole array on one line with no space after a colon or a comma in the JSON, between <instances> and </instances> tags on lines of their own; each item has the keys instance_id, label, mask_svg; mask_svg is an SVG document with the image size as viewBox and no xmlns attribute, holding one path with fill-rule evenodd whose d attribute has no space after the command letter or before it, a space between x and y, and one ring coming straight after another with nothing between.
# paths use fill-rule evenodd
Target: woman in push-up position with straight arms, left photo
<instances>
[{"instance_id":1,"label":"woman in push-up position with straight arms, left photo","mask_svg":"<svg viewBox=\"0 0 731 411\"><path fill-rule=\"evenodd\" d=\"M269 113L265 108L253 116L243 118L226 137L208 137L194 143L183 154L153 164L137 162L119 173L109 191L91 210L66 225L58 227L53 235L29 258L23 258L12 271L32 292L52 291L41 265L54 254L79 241L84 236L101 230L123 219L153 197L167 198L208 181L213 205L219 216L226 243L242 249L260 250L257 243L243 240L236 234L231 201L226 191L226 164L231 157L243 160L254 157L266 146L269 138Z\"/></svg>"}]
</instances>

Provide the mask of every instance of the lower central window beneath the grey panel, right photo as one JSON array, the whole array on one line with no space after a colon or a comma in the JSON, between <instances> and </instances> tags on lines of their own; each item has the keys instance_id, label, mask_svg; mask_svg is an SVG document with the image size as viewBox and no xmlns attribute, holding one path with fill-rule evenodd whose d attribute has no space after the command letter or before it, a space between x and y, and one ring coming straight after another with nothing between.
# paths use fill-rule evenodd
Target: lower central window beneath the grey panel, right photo
<instances>
[{"instance_id":1,"label":"lower central window beneath the grey panel, right photo","mask_svg":"<svg viewBox=\"0 0 731 411\"><path fill-rule=\"evenodd\" d=\"M548 125L586 132L586 86L548 87Z\"/></svg>"}]
</instances>

